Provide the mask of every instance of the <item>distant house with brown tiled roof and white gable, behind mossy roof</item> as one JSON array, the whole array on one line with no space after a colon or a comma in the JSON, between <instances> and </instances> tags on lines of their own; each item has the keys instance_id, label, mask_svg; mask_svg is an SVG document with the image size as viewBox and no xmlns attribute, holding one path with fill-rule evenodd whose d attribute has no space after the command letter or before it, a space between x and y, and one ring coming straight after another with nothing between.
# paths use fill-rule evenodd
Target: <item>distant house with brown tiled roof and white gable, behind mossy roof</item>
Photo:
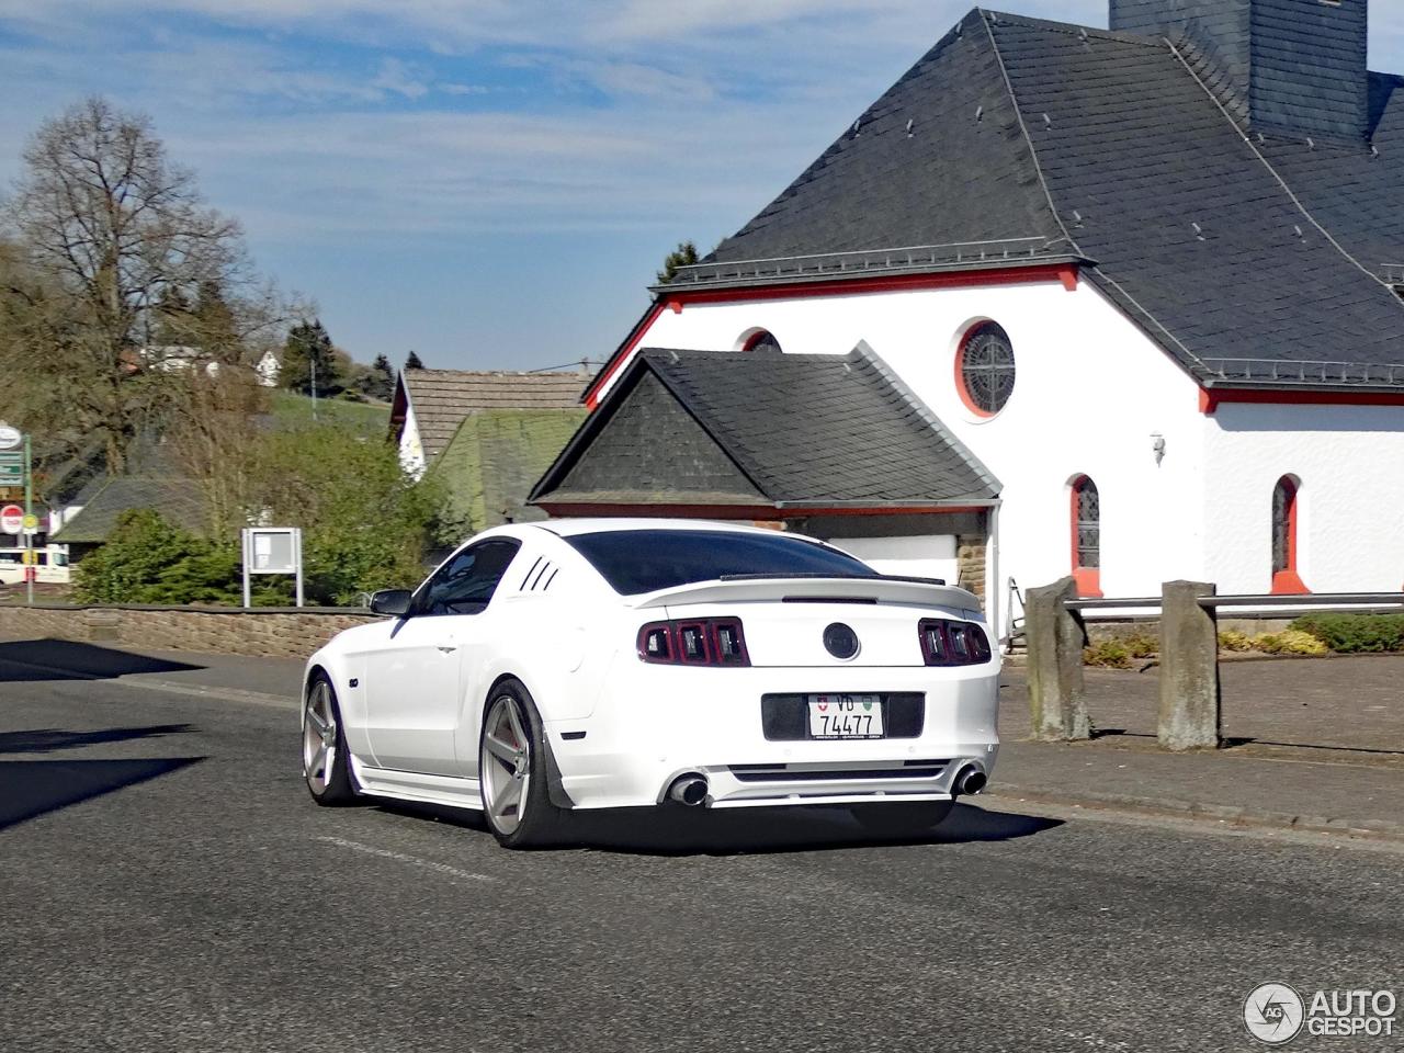
<instances>
[{"instance_id":1,"label":"distant house with brown tiled roof and white gable, behind mossy roof","mask_svg":"<svg viewBox=\"0 0 1404 1053\"><path fill-rule=\"evenodd\" d=\"M517 373L406 369L395 383L390 438L400 451L404 470L420 477L448 449L469 417L496 410L577 411L581 392L590 380L591 373L583 371ZM560 445L564 445L564 438ZM549 458L546 463L550 463ZM534 480L522 487L522 496L531 482Z\"/></svg>"}]
</instances>

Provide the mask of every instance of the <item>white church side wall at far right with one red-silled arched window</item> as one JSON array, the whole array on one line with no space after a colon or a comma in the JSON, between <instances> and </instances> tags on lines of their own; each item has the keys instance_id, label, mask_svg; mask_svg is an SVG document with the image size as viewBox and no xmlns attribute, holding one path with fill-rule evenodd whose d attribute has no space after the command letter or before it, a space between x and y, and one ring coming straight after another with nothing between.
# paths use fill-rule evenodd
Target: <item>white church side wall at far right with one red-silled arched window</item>
<instances>
[{"instance_id":1,"label":"white church side wall at far right with one red-silled arched window","mask_svg":"<svg viewBox=\"0 0 1404 1053\"><path fill-rule=\"evenodd\" d=\"M1205 418L1216 470L1205 503L1214 545L1206 580L1266 592L1272 490L1297 491L1297 573L1313 592L1404 587L1404 407L1223 403Z\"/></svg>"}]
</instances>

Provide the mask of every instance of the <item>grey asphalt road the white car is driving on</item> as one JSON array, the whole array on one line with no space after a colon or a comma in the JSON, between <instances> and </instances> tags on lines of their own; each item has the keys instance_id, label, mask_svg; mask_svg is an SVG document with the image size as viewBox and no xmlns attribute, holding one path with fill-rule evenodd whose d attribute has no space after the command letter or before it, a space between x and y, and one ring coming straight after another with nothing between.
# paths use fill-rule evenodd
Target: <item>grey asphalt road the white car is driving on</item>
<instances>
[{"instance_id":1,"label":"grey asphalt road the white car is driving on","mask_svg":"<svg viewBox=\"0 0 1404 1053\"><path fill-rule=\"evenodd\" d=\"M295 743L291 705L0 660L0 1049L1202 1053L1262 1049L1261 981L1404 1000L1387 847L960 807L917 844L668 813L512 854L316 807Z\"/></svg>"}]
</instances>

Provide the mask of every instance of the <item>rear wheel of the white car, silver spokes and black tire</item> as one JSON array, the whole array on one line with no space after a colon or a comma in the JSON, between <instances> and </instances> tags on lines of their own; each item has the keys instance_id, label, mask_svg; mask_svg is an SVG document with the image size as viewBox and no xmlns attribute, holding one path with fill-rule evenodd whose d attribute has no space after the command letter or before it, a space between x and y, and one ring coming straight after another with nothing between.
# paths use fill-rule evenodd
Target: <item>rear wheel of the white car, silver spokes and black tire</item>
<instances>
[{"instance_id":1,"label":"rear wheel of the white car, silver spokes and black tire","mask_svg":"<svg viewBox=\"0 0 1404 1053\"><path fill-rule=\"evenodd\" d=\"M515 715L515 724L508 720L507 729L511 731L511 739L517 739L515 731L521 730L526 747L525 785L521 789L517 807L508 813L498 813L493 797L510 796L510 793L501 792L504 782L517 783L521 779L511 774L512 764L489 747L489 730L503 729L500 708L511 709ZM512 747L522 746L522 743L510 741L505 736L497 737L498 744L503 741L508 741ZM541 713L536 712L536 703L521 681L504 680L487 696L487 703L483 706L483 723L477 734L477 765L479 786L483 793L483 820L503 848L546 848L559 844L562 830L566 826L566 813L550 803L548 785L550 761L546 734L541 723ZM497 788L496 792L494 788Z\"/></svg>"}]
</instances>

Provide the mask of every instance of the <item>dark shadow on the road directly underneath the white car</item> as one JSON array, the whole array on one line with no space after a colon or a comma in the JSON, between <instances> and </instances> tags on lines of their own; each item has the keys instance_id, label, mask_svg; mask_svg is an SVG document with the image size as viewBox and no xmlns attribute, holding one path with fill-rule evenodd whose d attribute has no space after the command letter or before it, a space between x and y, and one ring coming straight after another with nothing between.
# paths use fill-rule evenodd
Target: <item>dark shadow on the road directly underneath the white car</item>
<instances>
[{"instance_id":1,"label":"dark shadow on the road directly underneath the white car","mask_svg":"<svg viewBox=\"0 0 1404 1053\"><path fill-rule=\"evenodd\" d=\"M383 812L452 823L487 833L477 812L378 800ZM755 855L762 852L824 852L880 845L936 845L1008 841L1063 826L1060 819L1021 816L958 804L935 830L910 837L879 837L840 807L703 812L665 807L581 812L570 816L562 848L592 848L635 855Z\"/></svg>"}]
</instances>

